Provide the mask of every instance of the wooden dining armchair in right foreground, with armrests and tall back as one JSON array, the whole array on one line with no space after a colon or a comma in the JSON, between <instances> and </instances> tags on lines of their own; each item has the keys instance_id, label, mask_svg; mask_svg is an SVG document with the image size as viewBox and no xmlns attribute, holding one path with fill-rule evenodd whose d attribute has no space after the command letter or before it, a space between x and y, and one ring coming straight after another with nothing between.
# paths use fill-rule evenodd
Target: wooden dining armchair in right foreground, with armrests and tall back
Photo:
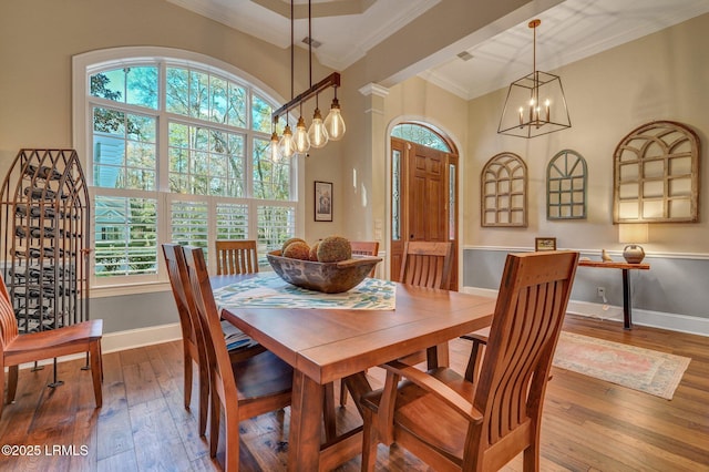
<instances>
[{"instance_id":1,"label":"wooden dining armchair in right foreground, with armrests and tall back","mask_svg":"<svg viewBox=\"0 0 709 472\"><path fill-rule=\"evenodd\" d=\"M476 383L449 368L382 366L383 390L362 397L362 470L373 470L379 442L395 442L435 470L499 470L523 452L524 470L538 471L544 393L577 260L574 252L507 255Z\"/></svg>"}]
</instances>

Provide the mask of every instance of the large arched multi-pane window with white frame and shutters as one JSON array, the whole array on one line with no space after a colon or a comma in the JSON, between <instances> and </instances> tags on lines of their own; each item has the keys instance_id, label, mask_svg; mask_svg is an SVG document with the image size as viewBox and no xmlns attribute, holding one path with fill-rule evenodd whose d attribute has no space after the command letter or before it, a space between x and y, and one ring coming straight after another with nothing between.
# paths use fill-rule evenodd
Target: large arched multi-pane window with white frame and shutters
<instances>
[{"instance_id":1,"label":"large arched multi-pane window with white frame and shutters","mask_svg":"<svg viewBox=\"0 0 709 472\"><path fill-rule=\"evenodd\" d=\"M160 48L82 54L74 73L96 285L165 281L164 243L209 263L216 239L257 239L267 264L296 235L297 161L269 160L276 101L257 80Z\"/></svg>"}]
</instances>

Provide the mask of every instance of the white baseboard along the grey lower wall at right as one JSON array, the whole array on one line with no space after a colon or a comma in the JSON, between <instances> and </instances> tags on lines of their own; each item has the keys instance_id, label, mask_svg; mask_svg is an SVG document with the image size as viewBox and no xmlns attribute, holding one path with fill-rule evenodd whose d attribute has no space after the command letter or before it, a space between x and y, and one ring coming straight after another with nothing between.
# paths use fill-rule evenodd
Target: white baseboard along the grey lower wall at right
<instances>
[{"instance_id":1,"label":"white baseboard along the grey lower wall at right","mask_svg":"<svg viewBox=\"0 0 709 472\"><path fill-rule=\"evenodd\" d=\"M463 287L461 291L465 294L480 295L482 297L494 298L497 296L497 290L490 288ZM615 305L600 305L589 301L569 300L567 312L603 320L617 321L619 324L623 322L623 307ZM633 308L633 325L709 337L708 318Z\"/></svg>"}]
</instances>

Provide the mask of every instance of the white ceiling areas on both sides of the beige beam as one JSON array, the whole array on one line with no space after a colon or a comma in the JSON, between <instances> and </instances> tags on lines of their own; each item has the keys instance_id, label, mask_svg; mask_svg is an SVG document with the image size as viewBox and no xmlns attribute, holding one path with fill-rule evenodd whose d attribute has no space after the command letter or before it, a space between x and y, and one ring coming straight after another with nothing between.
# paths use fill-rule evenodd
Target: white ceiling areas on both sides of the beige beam
<instances>
[{"instance_id":1,"label":"white ceiling areas on both sides of the beige beam","mask_svg":"<svg viewBox=\"0 0 709 472\"><path fill-rule=\"evenodd\" d=\"M290 47L289 0L167 0L280 48ZM442 0L311 0L314 53L338 71ZM566 0L537 14L538 70L554 70L709 12L707 0ZM294 39L307 48L308 0L294 0ZM531 19L528 19L531 20ZM483 42L456 43L419 72L470 100L532 72L533 31L524 21ZM449 48L450 49L450 48ZM448 49L446 49L448 51ZM467 53L469 60L456 54Z\"/></svg>"}]
</instances>

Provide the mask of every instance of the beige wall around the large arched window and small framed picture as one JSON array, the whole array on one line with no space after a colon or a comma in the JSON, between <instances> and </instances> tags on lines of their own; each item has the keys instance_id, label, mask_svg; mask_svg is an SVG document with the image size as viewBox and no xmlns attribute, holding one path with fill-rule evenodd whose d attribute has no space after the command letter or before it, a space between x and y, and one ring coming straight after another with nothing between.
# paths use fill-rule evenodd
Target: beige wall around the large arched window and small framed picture
<instances>
[{"instance_id":1,"label":"beige wall around the large arched window and small framed picture","mask_svg":"<svg viewBox=\"0 0 709 472\"><path fill-rule=\"evenodd\" d=\"M2 1L0 178L22 147L72 146L72 57L127 45L177 48L210 55L263 81L280 94L275 99L290 96L288 49L276 48L164 0ZM297 48L296 93L308 88L307 63L307 52ZM317 80L330 72L314 62ZM327 112L329 98L320 105ZM309 119L312 110L304 113ZM312 222L312 181L330 182L340 175L339 166L332 165L338 161L328 158L331 154L337 151L326 147L305 161L308 237L337 232L328 228L335 224Z\"/></svg>"}]
</instances>

